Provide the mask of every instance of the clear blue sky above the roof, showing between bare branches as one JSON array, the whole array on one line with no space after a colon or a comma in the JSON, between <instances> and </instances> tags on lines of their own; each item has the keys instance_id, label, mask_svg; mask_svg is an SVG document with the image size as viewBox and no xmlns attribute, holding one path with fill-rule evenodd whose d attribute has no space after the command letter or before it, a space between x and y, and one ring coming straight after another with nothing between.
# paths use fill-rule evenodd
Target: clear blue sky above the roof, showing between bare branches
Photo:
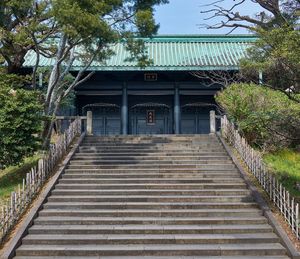
<instances>
[{"instance_id":1,"label":"clear blue sky above the roof, showing between bare branches","mask_svg":"<svg viewBox=\"0 0 300 259\"><path fill-rule=\"evenodd\" d=\"M225 34L230 29L207 30L199 28L199 24L216 23L217 20L205 21L208 14L201 14L201 11L208 9L204 5L214 2L213 0L169 0L169 4L158 6L156 8L155 18L160 23L158 34ZM223 7L232 6L236 1L224 0L219 3ZM236 9L241 14L254 16L261 9L257 4L247 0L245 4ZM234 34L245 34L247 30L238 29Z\"/></svg>"}]
</instances>

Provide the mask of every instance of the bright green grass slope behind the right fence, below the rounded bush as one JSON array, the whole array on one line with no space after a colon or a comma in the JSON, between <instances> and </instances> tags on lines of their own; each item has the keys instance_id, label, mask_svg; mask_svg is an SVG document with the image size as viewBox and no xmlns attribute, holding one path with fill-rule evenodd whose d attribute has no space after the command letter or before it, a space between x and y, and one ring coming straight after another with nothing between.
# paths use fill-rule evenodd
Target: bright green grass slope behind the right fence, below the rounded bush
<instances>
[{"instance_id":1,"label":"bright green grass slope behind the right fence, below the rounded bush","mask_svg":"<svg viewBox=\"0 0 300 259\"><path fill-rule=\"evenodd\" d=\"M266 154L264 160L283 186L299 200L300 191L296 188L296 184L300 184L300 152L283 149Z\"/></svg>"}]
</instances>

